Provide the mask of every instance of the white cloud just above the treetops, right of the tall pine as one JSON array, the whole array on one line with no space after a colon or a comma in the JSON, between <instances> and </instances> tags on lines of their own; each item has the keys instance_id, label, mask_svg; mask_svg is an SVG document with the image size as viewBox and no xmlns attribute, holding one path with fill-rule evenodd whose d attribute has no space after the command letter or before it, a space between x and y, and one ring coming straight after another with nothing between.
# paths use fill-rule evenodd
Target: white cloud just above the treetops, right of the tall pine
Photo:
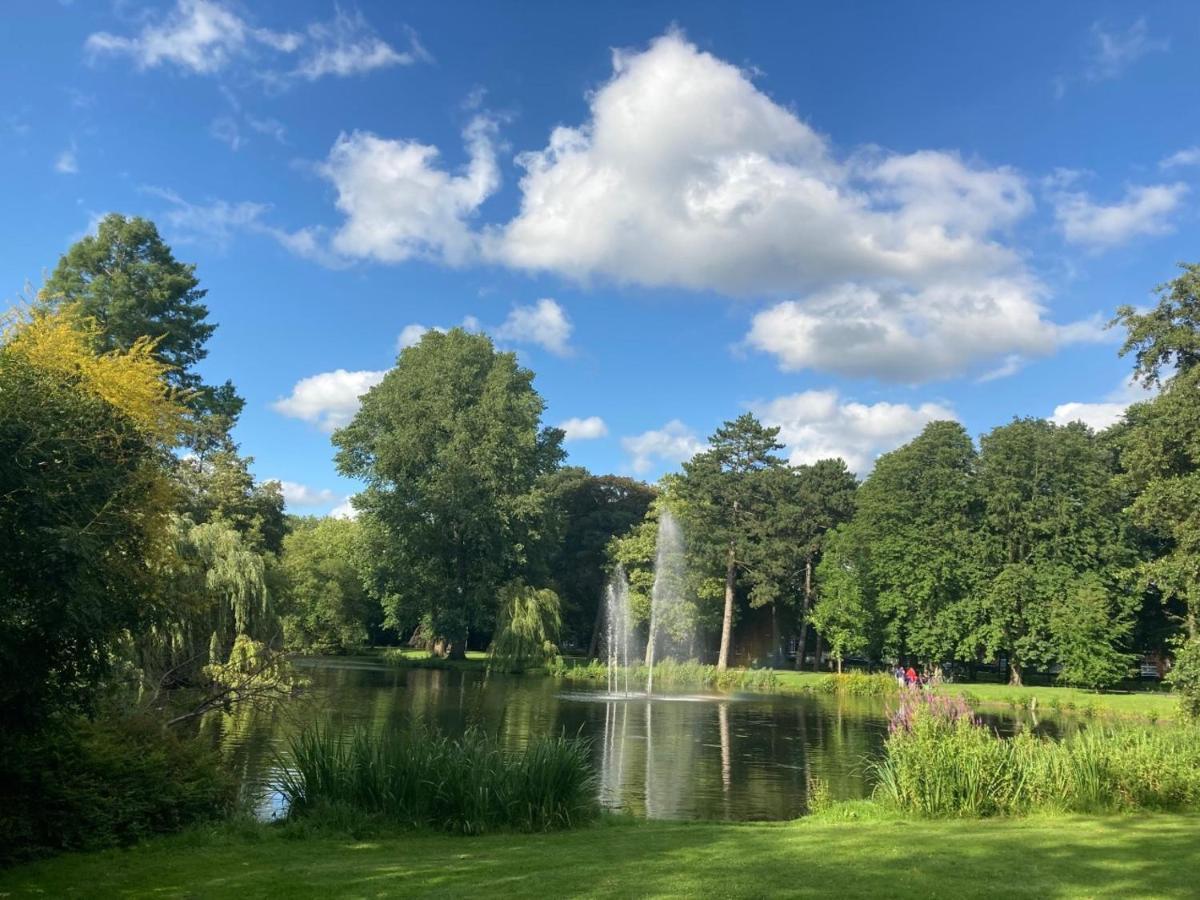
<instances>
[{"instance_id":1,"label":"white cloud just above the treetops, right of the tall pine","mask_svg":"<svg viewBox=\"0 0 1200 900\"><path fill-rule=\"evenodd\" d=\"M911 440L929 422L958 419L941 403L842 402L835 390L790 394L751 404L764 425L780 430L793 466L841 457L860 475L880 454Z\"/></svg>"}]
</instances>

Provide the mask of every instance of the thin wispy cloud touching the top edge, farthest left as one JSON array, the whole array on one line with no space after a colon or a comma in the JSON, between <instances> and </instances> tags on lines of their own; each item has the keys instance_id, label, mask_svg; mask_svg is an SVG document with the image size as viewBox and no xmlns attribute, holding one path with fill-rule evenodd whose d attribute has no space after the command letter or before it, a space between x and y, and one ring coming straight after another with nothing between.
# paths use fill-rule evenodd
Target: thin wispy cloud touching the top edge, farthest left
<instances>
[{"instance_id":1,"label":"thin wispy cloud touching the top edge, farthest left","mask_svg":"<svg viewBox=\"0 0 1200 900\"><path fill-rule=\"evenodd\" d=\"M300 46L300 36L252 28L217 0L179 0L160 22L148 23L132 37L107 31L90 35L88 54L127 55L138 68L172 64L197 74L212 74L258 44L282 53Z\"/></svg>"}]
</instances>

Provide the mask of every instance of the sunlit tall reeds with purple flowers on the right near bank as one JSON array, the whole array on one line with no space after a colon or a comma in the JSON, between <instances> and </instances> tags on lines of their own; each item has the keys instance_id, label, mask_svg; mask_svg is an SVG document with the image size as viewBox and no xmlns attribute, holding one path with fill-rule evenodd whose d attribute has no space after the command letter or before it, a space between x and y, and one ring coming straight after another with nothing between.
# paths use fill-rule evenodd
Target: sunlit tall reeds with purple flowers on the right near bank
<instances>
[{"instance_id":1,"label":"sunlit tall reeds with purple flowers on the right near bank","mask_svg":"<svg viewBox=\"0 0 1200 900\"><path fill-rule=\"evenodd\" d=\"M929 817L1200 808L1200 728L1000 738L965 702L905 690L874 798Z\"/></svg>"}]
</instances>

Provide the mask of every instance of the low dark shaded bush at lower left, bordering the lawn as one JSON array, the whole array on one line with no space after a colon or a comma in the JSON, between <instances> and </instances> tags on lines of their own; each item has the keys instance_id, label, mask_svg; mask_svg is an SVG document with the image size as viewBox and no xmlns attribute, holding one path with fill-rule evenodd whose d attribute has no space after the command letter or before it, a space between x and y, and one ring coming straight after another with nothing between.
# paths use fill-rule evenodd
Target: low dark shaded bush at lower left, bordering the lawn
<instances>
[{"instance_id":1,"label":"low dark shaded bush at lower left, bordering the lawn","mask_svg":"<svg viewBox=\"0 0 1200 900\"><path fill-rule=\"evenodd\" d=\"M227 815L236 785L216 751L144 716L72 720L6 737L0 862L125 846Z\"/></svg>"}]
</instances>

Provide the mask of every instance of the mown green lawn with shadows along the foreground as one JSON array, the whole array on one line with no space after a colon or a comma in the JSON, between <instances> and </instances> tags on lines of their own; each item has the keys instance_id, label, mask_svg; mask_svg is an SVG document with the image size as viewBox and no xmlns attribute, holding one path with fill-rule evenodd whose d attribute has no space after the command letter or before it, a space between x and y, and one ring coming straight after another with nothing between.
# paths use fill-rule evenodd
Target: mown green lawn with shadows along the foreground
<instances>
[{"instance_id":1,"label":"mown green lawn with shadows along the foreground","mask_svg":"<svg viewBox=\"0 0 1200 900\"><path fill-rule=\"evenodd\" d=\"M0 895L1194 898L1198 834L1200 817L1170 815L622 822L365 840L226 828L0 872Z\"/></svg>"}]
</instances>

